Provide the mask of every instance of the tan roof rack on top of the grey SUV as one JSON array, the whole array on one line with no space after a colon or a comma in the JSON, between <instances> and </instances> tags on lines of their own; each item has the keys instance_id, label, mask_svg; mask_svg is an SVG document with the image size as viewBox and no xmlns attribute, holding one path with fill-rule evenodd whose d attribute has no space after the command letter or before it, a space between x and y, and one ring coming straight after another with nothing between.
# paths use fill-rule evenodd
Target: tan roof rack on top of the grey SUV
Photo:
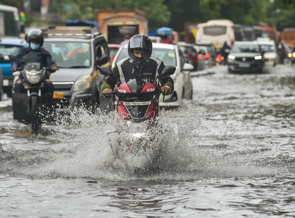
<instances>
[{"instance_id":1,"label":"tan roof rack on top of the grey SUV","mask_svg":"<svg viewBox=\"0 0 295 218\"><path fill-rule=\"evenodd\" d=\"M79 37L79 38L95 38L101 35L96 27L89 26L49 26L42 29L46 38L54 37Z\"/></svg>"}]
</instances>

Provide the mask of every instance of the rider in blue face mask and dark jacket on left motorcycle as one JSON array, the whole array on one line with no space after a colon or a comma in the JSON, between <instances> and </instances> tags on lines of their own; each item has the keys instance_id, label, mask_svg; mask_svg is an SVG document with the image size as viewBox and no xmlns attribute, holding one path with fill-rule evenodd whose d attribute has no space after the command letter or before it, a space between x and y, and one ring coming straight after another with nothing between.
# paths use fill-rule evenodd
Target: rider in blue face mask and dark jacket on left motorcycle
<instances>
[{"instance_id":1,"label":"rider in blue face mask and dark jacket on left motorcycle","mask_svg":"<svg viewBox=\"0 0 295 218\"><path fill-rule=\"evenodd\" d=\"M28 62L40 62L43 67L50 67L51 72L57 70L57 65L53 62L51 54L45 50L42 45L44 42L44 35L41 30L33 29L27 34L27 39L29 42L28 48L21 48L16 55L16 60L12 63L11 71L17 71L18 67L23 67L22 65ZM48 79L50 72L48 72ZM15 84L14 93L24 93L25 89L22 84L22 76ZM44 84L42 89L44 93L52 93L54 91L53 84L47 82Z\"/></svg>"}]
</instances>

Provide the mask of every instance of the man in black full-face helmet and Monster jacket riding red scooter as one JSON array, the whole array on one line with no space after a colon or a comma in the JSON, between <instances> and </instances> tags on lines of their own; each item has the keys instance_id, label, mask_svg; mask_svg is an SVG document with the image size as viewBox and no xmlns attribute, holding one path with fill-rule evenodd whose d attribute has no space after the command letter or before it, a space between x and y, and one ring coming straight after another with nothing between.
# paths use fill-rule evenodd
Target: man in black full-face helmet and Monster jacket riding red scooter
<instances>
[{"instance_id":1,"label":"man in black full-face helmet and Monster jacket riding red scooter","mask_svg":"<svg viewBox=\"0 0 295 218\"><path fill-rule=\"evenodd\" d=\"M118 63L112 70L112 74L104 79L101 85L101 92L110 98L116 83L127 83L131 79L144 80L146 83L154 83L157 74L165 68L163 61L151 56L152 53L151 39L145 35L138 34L131 37L128 43L128 58ZM163 94L172 93L174 89L173 79L166 76L159 80Z\"/></svg>"}]
</instances>

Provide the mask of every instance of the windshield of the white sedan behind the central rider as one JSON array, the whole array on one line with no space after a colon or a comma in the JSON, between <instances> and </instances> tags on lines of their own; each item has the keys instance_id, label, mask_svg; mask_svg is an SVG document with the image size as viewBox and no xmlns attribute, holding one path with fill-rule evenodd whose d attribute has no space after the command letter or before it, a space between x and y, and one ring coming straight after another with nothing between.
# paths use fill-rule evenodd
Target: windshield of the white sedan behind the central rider
<instances>
[{"instance_id":1,"label":"windshield of the white sedan behind the central rider","mask_svg":"<svg viewBox=\"0 0 295 218\"><path fill-rule=\"evenodd\" d=\"M153 52L151 55L163 61L166 67L176 67L176 54L174 49L172 50L153 48ZM127 48L123 48L118 58L116 59L116 63L127 57L128 50Z\"/></svg>"}]
</instances>

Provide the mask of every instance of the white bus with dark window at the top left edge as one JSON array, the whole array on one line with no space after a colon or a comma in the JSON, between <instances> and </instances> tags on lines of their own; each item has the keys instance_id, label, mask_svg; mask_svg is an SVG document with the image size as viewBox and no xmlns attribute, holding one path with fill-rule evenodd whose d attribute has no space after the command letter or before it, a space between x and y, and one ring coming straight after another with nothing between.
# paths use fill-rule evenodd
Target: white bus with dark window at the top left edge
<instances>
[{"instance_id":1,"label":"white bus with dark window at the top left edge","mask_svg":"<svg viewBox=\"0 0 295 218\"><path fill-rule=\"evenodd\" d=\"M19 37L20 20L16 7L0 5L0 37Z\"/></svg>"}]
</instances>

